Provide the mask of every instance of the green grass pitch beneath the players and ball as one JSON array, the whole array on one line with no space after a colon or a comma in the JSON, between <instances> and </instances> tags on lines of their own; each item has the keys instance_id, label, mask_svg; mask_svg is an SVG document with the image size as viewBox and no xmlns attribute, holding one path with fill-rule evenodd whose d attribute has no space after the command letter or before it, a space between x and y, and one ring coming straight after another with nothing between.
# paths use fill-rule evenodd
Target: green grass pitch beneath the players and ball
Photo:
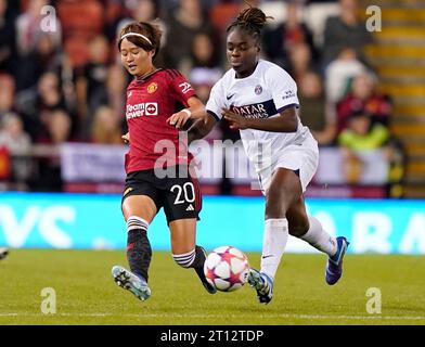
<instances>
[{"instance_id":1,"label":"green grass pitch beneath the players and ball","mask_svg":"<svg viewBox=\"0 0 425 347\"><path fill-rule=\"evenodd\" d=\"M248 253L250 265L260 255ZM347 255L339 283L324 282L324 255L284 255L274 298L259 305L245 285L210 295L195 272L169 253L154 253L152 297L139 301L111 277L127 266L125 252L12 249L0 261L2 324L425 324L425 257ZM44 287L56 293L56 313L43 314ZM370 287L382 312L366 311ZM376 306L374 306L376 307Z\"/></svg>"}]
</instances>

